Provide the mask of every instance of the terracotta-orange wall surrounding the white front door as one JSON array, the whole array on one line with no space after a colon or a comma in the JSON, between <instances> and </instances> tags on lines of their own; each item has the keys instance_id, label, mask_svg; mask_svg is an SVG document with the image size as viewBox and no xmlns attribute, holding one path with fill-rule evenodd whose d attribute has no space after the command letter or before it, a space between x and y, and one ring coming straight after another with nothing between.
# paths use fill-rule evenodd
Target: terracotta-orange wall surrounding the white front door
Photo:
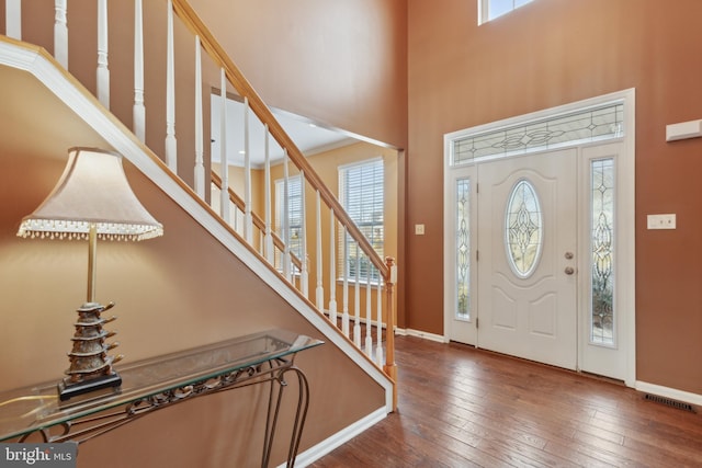
<instances>
[{"instance_id":1,"label":"terracotta-orange wall surrounding the white front door","mask_svg":"<svg viewBox=\"0 0 702 468\"><path fill-rule=\"evenodd\" d=\"M702 117L702 2L535 0L480 27L475 2L408 4L408 327L443 332L443 134L635 88L637 378L702 393L702 139L665 141ZM678 229L646 230L657 213Z\"/></svg>"}]
</instances>

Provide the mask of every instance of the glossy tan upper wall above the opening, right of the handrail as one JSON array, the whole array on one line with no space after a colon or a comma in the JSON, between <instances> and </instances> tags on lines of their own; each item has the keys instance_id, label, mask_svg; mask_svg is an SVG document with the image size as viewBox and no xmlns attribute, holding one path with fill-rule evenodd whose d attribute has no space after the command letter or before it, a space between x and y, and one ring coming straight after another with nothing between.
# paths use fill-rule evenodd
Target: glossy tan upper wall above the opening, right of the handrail
<instances>
[{"instance_id":1,"label":"glossy tan upper wall above the opening, right of the handrail","mask_svg":"<svg viewBox=\"0 0 702 468\"><path fill-rule=\"evenodd\" d=\"M406 0L191 3L269 105L406 146Z\"/></svg>"}]
</instances>

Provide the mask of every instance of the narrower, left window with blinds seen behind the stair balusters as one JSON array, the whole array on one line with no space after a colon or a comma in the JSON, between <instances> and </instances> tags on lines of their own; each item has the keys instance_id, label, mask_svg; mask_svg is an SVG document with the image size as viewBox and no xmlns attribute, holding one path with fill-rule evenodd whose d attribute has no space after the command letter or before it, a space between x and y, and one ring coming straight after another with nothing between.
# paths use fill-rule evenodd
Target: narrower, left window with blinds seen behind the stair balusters
<instances>
[{"instance_id":1,"label":"narrower, left window with blinds seen behind the stair balusters","mask_svg":"<svg viewBox=\"0 0 702 468\"><path fill-rule=\"evenodd\" d=\"M302 205L302 179L299 175L287 178L287 232L284 231L285 216L285 181L275 181L275 232L290 244L290 251L297 258L303 252L303 205ZM281 252L275 252L275 266L282 270L283 261Z\"/></svg>"}]
</instances>

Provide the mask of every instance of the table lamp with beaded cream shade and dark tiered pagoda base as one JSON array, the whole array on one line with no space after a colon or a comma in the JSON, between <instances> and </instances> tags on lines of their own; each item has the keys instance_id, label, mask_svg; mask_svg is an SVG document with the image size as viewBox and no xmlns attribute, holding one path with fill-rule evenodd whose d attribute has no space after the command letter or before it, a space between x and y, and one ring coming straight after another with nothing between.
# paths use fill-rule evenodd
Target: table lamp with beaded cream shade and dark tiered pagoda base
<instances>
[{"instance_id":1,"label":"table lamp with beaded cream shade and dark tiered pagoda base","mask_svg":"<svg viewBox=\"0 0 702 468\"><path fill-rule=\"evenodd\" d=\"M34 213L25 216L18 236L39 239L88 240L88 297L75 323L70 367L58 383L61 401L100 389L118 387L122 378L113 364L122 356L107 352L114 335L103 324L115 319L101 313L114 306L95 301L98 239L144 240L163 235L163 227L132 192L122 156L95 148L71 148L58 183Z\"/></svg>"}]
</instances>

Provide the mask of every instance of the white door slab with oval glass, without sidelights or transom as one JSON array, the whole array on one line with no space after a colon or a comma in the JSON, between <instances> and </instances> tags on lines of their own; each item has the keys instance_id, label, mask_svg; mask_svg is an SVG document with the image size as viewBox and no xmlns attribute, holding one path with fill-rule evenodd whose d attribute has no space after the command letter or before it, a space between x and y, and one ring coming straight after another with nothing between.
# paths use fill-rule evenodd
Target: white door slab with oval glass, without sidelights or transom
<instances>
[{"instance_id":1,"label":"white door slab with oval glass, without sidelights or transom","mask_svg":"<svg viewBox=\"0 0 702 468\"><path fill-rule=\"evenodd\" d=\"M577 150L478 165L480 347L577 367Z\"/></svg>"}]
</instances>

